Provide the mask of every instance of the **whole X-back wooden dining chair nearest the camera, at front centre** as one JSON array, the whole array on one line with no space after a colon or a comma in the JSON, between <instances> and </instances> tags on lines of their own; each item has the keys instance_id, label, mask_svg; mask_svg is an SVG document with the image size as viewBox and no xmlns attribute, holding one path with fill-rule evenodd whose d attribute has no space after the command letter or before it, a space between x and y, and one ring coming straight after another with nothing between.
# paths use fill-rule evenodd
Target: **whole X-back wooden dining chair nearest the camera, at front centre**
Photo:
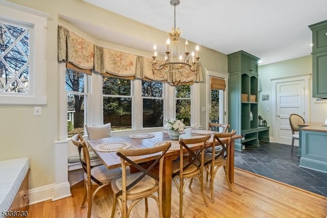
<instances>
[{"instance_id":1,"label":"whole X-back wooden dining chair nearest the camera, at front centre","mask_svg":"<svg viewBox=\"0 0 327 218\"><path fill-rule=\"evenodd\" d=\"M162 217L162 170L164 168L164 156L171 146L170 142L164 143L161 146L146 148L146 149L126 149L118 150L116 154L121 158L122 177L116 178L111 182L113 191L113 206L111 217L113 218L118 201L123 218L130 215L133 207L142 199L145 199L145 210L148 211L148 198L153 198L159 208L159 217ZM143 156L160 152L160 157L157 158L149 167L144 168L143 165L132 161L135 156ZM159 163L158 175L153 172L154 166ZM139 173L126 173L126 166L131 164L140 171ZM158 197L153 195L157 192ZM134 200L129 207L127 201Z\"/></svg>"}]
</instances>

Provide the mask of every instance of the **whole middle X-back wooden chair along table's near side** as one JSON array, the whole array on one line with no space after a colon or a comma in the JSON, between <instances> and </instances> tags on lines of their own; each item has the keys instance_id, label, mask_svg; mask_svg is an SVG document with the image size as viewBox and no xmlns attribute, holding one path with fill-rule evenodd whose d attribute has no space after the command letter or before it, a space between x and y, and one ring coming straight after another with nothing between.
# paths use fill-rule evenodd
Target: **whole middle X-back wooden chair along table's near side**
<instances>
[{"instance_id":1,"label":"whole middle X-back wooden chair along table's near side","mask_svg":"<svg viewBox=\"0 0 327 218\"><path fill-rule=\"evenodd\" d=\"M179 161L173 162L172 177L173 181L179 192L179 217L183 216L183 193L185 186L190 182L189 187L192 185L192 179L198 178L200 180L201 195L204 205L207 207L204 191L203 191L203 150L210 135L206 135L200 138L190 138L179 140ZM201 148L198 151L192 151L190 146L194 144L201 144ZM184 157L184 151L189 153L188 157ZM177 181L179 179L179 182Z\"/></svg>"}]
</instances>

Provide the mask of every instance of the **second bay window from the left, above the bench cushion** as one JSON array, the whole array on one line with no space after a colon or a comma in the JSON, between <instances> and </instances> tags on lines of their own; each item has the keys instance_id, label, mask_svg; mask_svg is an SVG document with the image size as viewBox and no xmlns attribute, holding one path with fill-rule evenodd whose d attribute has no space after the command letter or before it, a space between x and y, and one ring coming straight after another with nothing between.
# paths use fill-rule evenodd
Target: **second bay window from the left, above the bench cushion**
<instances>
[{"instance_id":1,"label":"second bay window from the left, above the bench cushion","mask_svg":"<svg viewBox=\"0 0 327 218\"><path fill-rule=\"evenodd\" d=\"M131 80L103 77L102 86L103 123L111 123L112 131L131 129Z\"/></svg>"}]
</instances>

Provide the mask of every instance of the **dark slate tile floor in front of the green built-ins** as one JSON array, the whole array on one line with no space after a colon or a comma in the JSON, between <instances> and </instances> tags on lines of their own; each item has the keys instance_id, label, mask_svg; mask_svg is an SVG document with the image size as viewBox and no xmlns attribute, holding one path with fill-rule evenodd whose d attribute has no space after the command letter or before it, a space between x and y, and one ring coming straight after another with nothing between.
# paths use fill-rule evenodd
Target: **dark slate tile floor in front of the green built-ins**
<instances>
[{"instance_id":1,"label":"dark slate tile floor in front of the green built-ins","mask_svg":"<svg viewBox=\"0 0 327 218\"><path fill-rule=\"evenodd\" d=\"M235 166L327 197L327 173L299 167L300 157L294 147L278 143L246 145L235 151Z\"/></svg>"}]
</instances>

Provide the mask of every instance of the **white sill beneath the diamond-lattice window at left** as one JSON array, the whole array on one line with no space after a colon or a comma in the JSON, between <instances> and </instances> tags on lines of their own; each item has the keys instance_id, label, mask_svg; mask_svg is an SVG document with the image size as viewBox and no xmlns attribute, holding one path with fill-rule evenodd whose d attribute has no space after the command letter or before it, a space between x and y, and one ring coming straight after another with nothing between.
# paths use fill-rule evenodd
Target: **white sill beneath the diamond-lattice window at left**
<instances>
[{"instance_id":1,"label":"white sill beneath the diamond-lattice window at left","mask_svg":"<svg viewBox=\"0 0 327 218\"><path fill-rule=\"evenodd\" d=\"M0 105L46 105L46 97L0 96Z\"/></svg>"}]
</instances>

